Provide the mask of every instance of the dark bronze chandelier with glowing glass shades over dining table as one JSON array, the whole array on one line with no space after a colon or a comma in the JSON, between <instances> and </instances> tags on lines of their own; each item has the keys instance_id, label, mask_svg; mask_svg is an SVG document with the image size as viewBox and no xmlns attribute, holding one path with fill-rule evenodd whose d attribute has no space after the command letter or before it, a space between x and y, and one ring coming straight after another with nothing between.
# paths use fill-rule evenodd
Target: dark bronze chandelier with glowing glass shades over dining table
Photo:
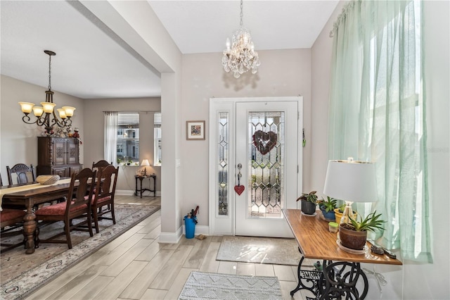
<instances>
[{"instance_id":1,"label":"dark bronze chandelier with glowing glass shades over dining table","mask_svg":"<svg viewBox=\"0 0 450 300\"><path fill-rule=\"evenodd\" d=\"M24 113L22 118L23 122L45 126L46 133L50 135L51 130L53 130L53 126L55 125L58 125L59 127L70 127L70 125L72 125L72 120L70 118L72 118L73 111L75 111L76 108L72 106L63 106L63 108L57 109L60 119L56 116L55 110L53 109L56 106L56 104L53 103L54 92L51 91L51 56L55 56L56 53L49 50L45 50L44 53L49 55L49 90L45 92L45 102L41 102L41 106L34 106L34 104L30 102L19 102L19 104ZM33 111L36 116L36 120L33 122L29 116L31 111Z\"/></svg>"}]
</instances>

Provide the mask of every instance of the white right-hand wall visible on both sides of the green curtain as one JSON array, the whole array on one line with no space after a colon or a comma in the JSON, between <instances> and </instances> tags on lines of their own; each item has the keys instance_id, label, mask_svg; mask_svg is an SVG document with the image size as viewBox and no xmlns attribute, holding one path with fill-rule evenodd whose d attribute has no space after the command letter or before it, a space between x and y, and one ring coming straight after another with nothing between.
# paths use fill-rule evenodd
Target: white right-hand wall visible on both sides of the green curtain
<instances>
[{"instance_id":1,"label":"white right-hand wall visible on both sides of the green curtain","mask_svg":"<svg viewBox=\"0 0 450 300\"><path fill-rule=\"evenodd\" d=\"M428 182L430 189L430 220L432 221L432 255L434 263L403 261L402 267L366 265L383 273L388 283L380 298L376 282L369 275L368 299L449 299L449 1L423 1L425 37L425 82L428 126ZM332 39L329 32L342 10L341 1L323 32L312 47L312 112L314 119L311 185L323 187L326 173L326 137L330 55Z\"/></svg>"}]
</instances>

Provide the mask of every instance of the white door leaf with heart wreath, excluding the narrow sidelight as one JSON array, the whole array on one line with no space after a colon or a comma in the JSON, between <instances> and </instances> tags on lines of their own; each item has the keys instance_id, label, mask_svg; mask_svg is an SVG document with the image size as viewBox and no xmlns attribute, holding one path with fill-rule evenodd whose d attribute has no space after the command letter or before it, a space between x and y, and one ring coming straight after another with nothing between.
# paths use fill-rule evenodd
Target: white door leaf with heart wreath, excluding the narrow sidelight
<instances>
[{"instance_id":1,"label":"white door leaf with heart wreath, excluding the narrow sidelight","mask_svg":"<svg viewBox=\"0 0 450 300\"><path fill-rule=\"evenodd\" d=\"M292 237L283 208L297 199L298 102L236 104L236 235ZM301 151L301 149L300 149ZM237 183L237 182L236 182Z\"/></svg>"}]
</instances>

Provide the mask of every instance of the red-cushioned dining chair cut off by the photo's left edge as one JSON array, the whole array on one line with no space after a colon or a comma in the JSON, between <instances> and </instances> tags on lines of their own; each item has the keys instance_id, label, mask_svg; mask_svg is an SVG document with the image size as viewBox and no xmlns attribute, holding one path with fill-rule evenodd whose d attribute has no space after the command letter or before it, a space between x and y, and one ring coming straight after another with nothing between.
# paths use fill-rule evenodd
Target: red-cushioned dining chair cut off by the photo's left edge
<instances>
[{"instance_id":1,"label":"red-cushioned dining chair cut off by the photo's left edge","mask_svg":"<svg viewBox=\"0 0 450 300\"><path fill-rule=\"evenodd\" d=\"M6 237L11 237L13 235L24 235L23 230L15 230L19 227L23 227L23 217L25 215L25 211L20 209L10 209L3 208L0 211L0 228L1 228L1 238L4 239ZM20 242L0 242L1 250L0 253L4 251L11 250L16 246L25 244L25 235L24 238Z\"/></svg>"}]
</instances>

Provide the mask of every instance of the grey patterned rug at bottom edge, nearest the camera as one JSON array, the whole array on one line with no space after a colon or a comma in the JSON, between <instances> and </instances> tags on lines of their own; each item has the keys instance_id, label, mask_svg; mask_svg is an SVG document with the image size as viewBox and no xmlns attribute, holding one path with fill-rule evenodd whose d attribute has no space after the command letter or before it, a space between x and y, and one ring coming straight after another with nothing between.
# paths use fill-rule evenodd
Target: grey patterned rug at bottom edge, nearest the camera
<instances>
[{"instance_id":1,"label":"grey patterned rug at bottom edge, nearest the camera","mask_svg":"<svg viewBox=\"0 0 450 300\"><path fill-rule=\"evenodd\" d=\"M283 299L277 277L193 271L179 299Z\"/></svg>"}]
</instances>

